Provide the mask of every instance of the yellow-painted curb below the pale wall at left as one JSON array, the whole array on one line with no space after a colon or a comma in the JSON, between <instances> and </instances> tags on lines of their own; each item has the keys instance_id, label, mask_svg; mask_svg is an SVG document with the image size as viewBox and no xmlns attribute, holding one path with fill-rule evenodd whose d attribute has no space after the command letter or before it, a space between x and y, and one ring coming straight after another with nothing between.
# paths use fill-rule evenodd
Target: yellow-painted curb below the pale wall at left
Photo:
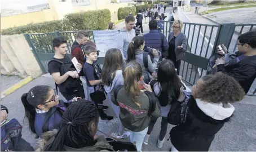
<instances>
[{"instance_id":1,"label":"yellow-painted curb below the pale wall at left","mask_svg":"<svg viewBox=\"0 0 256 152\"><path fill-rule=\"evenodd\" d=\"M32 80L33 80L32 76L29 76L29 77L23 79L22 81L14 84L14 86L11 86L10 88L8 88L7 90L5 90L5 91L3 91L1 93L1 99L3 99L4 97L10 95L12 92L14 92L17 89L23 87L25 84L29 83Z\"/></svg>"}]
</instances>

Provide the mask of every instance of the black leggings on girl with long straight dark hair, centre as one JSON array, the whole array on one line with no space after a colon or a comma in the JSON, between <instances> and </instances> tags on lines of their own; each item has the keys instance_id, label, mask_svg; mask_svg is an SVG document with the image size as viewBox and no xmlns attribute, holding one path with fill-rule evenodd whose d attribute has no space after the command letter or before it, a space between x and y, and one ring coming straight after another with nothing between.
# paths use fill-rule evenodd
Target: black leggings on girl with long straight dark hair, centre
<instances>
[{"instance_id":1,"label":"black leggings on girl with long straight dark hair, centre","mask_svg":"<svg viewBox=\"0 0 256 152\"><path fill-rule=\"evenodd\" d=\"M155 123L157 121L157 118L151 118L151 122L149 123L149 126L148 126L148 132L147 134L150 135L154 126L155 126ZM167 126L168 126L168 122L167 122L167 117L162 117L162 121L161 121L161 130L160 130L160 136L159 136L159 140L164 140L165 138L165 135L166 135L166 132L167 132Z\"/></svg>"}]
</instances>

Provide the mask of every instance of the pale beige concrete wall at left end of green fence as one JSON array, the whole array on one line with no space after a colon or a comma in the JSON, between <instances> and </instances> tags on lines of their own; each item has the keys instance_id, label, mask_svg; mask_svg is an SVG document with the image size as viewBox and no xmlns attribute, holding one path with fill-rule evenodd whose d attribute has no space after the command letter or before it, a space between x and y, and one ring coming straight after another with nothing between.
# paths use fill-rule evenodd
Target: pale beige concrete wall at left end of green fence
<instances>
[{"instance_id":1,"label":"pale beige concrete wall at left end of green fence","mask_svg":"<svg viewBox=\"0 0 256 152\"><path fill-rule=\"evenodd\" d=\"M23 34L1 36L2 74L38 77L42 70Z\"/></svg>"}]
</instances>

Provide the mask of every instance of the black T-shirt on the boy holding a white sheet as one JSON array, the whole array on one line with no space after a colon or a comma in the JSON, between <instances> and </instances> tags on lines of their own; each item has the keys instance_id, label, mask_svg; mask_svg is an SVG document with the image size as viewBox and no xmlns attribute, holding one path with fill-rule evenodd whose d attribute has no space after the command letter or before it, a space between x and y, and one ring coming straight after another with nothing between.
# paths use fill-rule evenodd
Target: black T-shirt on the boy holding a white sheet
<instances>
[{"instance_id":1,"label":"black T-shirt on the boy holding a white sheet","mask_svg":"<svg viewBox=\"0 0 256 152\"><path fill-rule=\"evenodd\" d=\"M75 71L76 68L74 68L74 65L72 63L72 61L66 61L66 62L62 62L56 59L52 59L48 62L48 65L50 64L50 62L59 62L61 64L60 67L60 75L64 75L65 73L67 73L67 71ZM58 92L58 87L60 92L64 92L64 93L68 93L68 94L73 94L74 92L78 91L78 88L80 88L82 86L81 80L80 78L72 78L72 77L68 77L67 80L61 84L56 84L55 83L55 87L56 87L56 91Z\"/></svg>"}]
</instances>

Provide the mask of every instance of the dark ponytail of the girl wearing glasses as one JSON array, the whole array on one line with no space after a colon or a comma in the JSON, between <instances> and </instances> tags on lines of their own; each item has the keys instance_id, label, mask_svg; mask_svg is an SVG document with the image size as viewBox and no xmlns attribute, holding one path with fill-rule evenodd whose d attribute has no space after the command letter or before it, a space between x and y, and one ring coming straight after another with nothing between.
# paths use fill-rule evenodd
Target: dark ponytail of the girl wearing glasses
<instances>
[{"instance_id":1,"label":"dark ponytail of the girl wearing glasses","mask_svg":"<svg viewBox=\"0 0 256 152\"><path fill-rule=\"evenodd\" d=\"M36 129L34 128L34 119L36 116L36 109L34 108L34 106L29 104L27 97L28 97L28 93L24 93L21 96L21 101L25 108L25 117L28 118L29 129L31 132L36 133Z\"/></svg>"}]
</instances>

